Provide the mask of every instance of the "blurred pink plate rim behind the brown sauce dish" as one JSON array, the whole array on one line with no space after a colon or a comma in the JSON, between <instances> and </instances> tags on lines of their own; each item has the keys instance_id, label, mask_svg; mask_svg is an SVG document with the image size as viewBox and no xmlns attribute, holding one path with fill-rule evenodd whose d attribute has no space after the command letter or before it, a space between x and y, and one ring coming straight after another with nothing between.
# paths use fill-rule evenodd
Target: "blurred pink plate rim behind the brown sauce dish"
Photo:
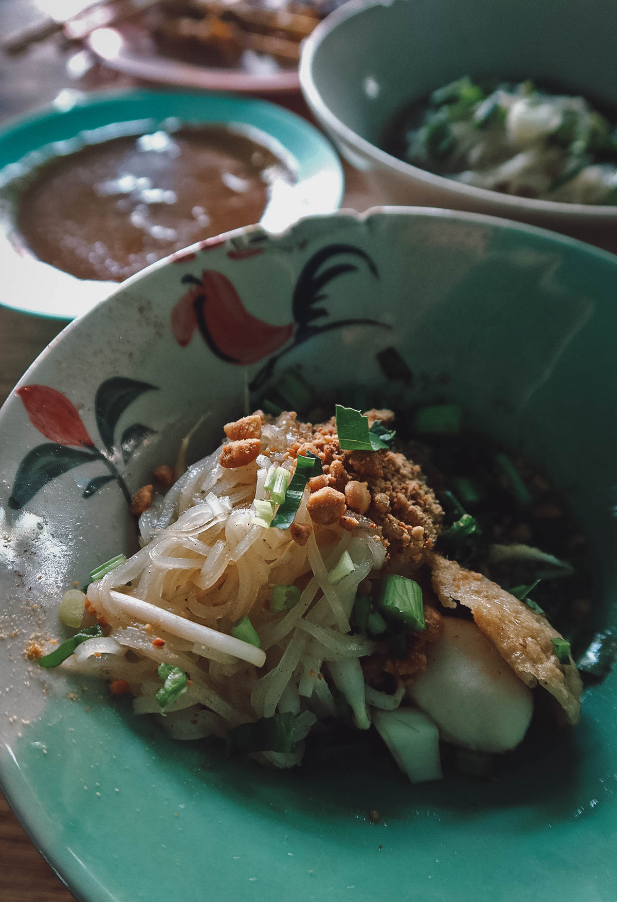
<instances>
[{"instance_id":1,"label":"blurred pink plate rim behind the brown sauce dish","mask_svg":"<svg viewBox=\"0 0 617 902\"><path fill-rule=\"evenodd\" d=\"M87 45L112 69L163 85L259 94L299 90L298 69L252 75L244 69L214 68L174 60L160 51L146 26L135 21L119 23L114 28L97 28L87 38Z\"/></svg>"}]
</instances>

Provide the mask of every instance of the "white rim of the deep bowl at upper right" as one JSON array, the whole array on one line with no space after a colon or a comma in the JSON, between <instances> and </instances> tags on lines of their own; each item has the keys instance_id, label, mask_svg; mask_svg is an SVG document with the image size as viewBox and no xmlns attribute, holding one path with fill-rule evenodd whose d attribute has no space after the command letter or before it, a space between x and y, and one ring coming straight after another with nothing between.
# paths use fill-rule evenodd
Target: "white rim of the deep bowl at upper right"
<instances>
[{"instance_id":1,"label":"white rim of the deep bowl at upper right","mask_svg":"<svg viewBox=\"0 0 617 902\"><path fill-rule=\"evenodd\" d=\"M398 2L400 4L409 3L409 0L398 0ZM340 6L334 13L329 14L326 19L320 22L317 28L310 33L309 37L302 42L299 61L299 79L302 94L313 113L318 116L318 119L325 124L327 129L331 129L332 132L339 135L355 150L373 158L382 166L396 170L401 175L411 176L413 179L417 179L431 188L448 191L463 200L481 200L484 204L502 204L505 207L510 207L512 212L516 211L519 216L524 215L529 210L532 213L547 217L551 216L564 222L573 219L578 219L579 221L585 219L589 224L596 222L600 225L601 223L605 224L609 219L617 218L617 205L613 204L570 204L557 200L519 198L511 194L502 194L501 191L491 191L485 188L475 188L473 185L464 185L454 179L435 175L433 172L428 172L428 170L420 169L418 166L412 166L411 163L399 160L398 157L382 151L376 144L367 141L366 138L363 138L348 125L345 125L327 106L315 84L313 79L315 54L320 43L330 32L335 31L340 23L376 6L388 7L396 5L396 3L397 0L348 0L345 5Z\"/></svg>"}]
</instances>

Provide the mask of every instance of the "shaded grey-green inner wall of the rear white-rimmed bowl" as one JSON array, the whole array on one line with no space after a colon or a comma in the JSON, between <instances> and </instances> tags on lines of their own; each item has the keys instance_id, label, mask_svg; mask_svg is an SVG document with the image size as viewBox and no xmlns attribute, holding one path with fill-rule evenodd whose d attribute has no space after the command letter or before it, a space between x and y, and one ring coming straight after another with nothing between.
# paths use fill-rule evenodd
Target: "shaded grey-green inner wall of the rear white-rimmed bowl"
<instances>
[{"instance_id":1,"label":"shaded grey-green inner wall of the rear white-rimmed bowl","mask_svg":"<svg viewBox=\"0 0 617 902\"><path fill-rule=\"evenodd\" d=\"M465 74L531 78L617 105L615 27L611 0L593 0L583 17L576 0L352 2L311 39L311 78L331 113L381 146L401 106Z\"/></svg>"}]
</instances>

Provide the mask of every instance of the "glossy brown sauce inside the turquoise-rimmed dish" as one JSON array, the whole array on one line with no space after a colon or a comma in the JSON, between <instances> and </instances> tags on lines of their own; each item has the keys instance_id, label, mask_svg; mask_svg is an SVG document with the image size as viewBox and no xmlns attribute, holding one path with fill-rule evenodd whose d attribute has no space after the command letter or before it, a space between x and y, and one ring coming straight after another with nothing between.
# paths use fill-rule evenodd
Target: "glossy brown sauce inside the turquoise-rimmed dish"
<instances>
[{"instance_id":1,"label":"glossy brown sauce inside the turquoise-rimmed dish","mask_svg":"<svg viewBox=\"0 0 617 902\"><path fill-rule=\"evenodd\" d=\"M17 226L34 256L79 279L123 281L188 244L259 222L289 169L223 125L118 137L41 166Z\"/></svg>"}]
</instances>

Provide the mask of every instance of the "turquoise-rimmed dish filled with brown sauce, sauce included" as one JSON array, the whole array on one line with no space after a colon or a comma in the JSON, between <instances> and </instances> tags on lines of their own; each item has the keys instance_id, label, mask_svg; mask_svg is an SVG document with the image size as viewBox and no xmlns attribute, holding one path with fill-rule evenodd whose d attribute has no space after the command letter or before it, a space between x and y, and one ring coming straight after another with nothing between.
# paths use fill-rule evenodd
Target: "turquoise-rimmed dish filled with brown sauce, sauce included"
<instances>
[{"instance_id":1,"label":"turquoise-rimmed dish filled with brown sauce, sauce included","mask_svg":"<svg viewBox=\"0 0 617 902\"><path fill-rule=\"evenodd\" d=\"M336 153L265 101L131 91L71 99L0 133L2 303L75 318L181 248L335 210Z\"/></svg>"}]
</instances>

